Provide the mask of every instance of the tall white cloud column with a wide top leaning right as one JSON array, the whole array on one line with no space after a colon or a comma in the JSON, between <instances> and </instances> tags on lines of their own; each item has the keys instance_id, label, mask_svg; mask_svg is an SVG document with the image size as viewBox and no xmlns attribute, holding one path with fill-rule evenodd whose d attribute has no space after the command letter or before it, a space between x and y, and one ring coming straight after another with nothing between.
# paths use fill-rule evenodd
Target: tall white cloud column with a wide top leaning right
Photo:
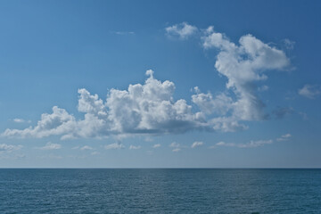
<instances>
[{"instance_id":1,"label":"tall white cloud column with a wide top leaning right","mask_svg":"<svg viewBox=\"0 0 321 214\"><path fill-rule=\"evenodd\" d=\"M285 53L250 34L240 38L240 45L235 45L224 34L214 31L213 27L205 30L202 41L205 49L216 48L219 51L215 68L227 78L226 88L232 89L237 97L234 103L225 99L226 106L233 109L233 117L242 120L265 119L265 104L257 95L257 83L268 78L264 71L284 70L290 65Z\"/></svg>"}]
</instances>

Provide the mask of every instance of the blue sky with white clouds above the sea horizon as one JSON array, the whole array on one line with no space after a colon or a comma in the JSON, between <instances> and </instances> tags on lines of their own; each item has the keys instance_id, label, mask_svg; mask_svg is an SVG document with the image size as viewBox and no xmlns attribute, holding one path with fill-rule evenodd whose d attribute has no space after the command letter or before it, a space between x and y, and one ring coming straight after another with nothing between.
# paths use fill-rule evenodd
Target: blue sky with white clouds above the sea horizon
<instances>
[{"instance_id":1,"label":"blue sky with white clouds above the sea horizon","mask_svg":"<svg viewBox=\"0 0 321 214\"><path fill-rule=\"evenodd\" d=\"M1 1L0 168L320 168L319 1Z\"/></svg>"}]
</instances>

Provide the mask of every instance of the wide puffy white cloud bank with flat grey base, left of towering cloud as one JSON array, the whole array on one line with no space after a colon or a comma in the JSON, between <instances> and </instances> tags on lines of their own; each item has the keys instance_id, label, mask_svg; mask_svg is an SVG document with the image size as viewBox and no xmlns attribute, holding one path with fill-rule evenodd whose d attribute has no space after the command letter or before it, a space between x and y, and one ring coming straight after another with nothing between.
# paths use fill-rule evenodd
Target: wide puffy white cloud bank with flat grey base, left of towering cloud
<instances>
[{"instance_id":1,"label":"wide puffy white cloud bank with flat grey base, left of towering cloud","mask_svg":"<svg viewBox=\"0 0 321 214\"><path fill-rule=\"evenodd\" d=\"M78 111L84 119L75 119L67 111L54 106L51 114L44 113L37 126L6 129L3 136L45 137L58 135L62 139L101 137L123 134L184 133L193 129L212 129L202 112L194 113L183 99L174 101L175 85L153 78L147 70L144 85L129 85L128 90L111 89L103 102L98 95L79 89Z\"/></svg>"}]
</instances>

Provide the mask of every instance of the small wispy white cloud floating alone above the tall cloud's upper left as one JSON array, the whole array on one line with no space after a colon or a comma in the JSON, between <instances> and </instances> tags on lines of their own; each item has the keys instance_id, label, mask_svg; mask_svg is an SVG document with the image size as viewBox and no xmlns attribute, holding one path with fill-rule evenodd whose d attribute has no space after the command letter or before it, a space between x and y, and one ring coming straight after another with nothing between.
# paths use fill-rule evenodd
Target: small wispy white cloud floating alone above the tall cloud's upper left
<instances>
[{"instance_id":1,"label":"small wispy white cloud floating alone above the tall cloud's upper left","mask_svg":"<svg viewBox=\"0 0 321 214\"><path fill-rule=\"evenodd\" d=\"M182 22L180 24L170 26L165 30L170 37L186 39L187 37L190 37L196 33L198 29L192 25L189 25L187 22Z\"/></svg>"}]
</instances>

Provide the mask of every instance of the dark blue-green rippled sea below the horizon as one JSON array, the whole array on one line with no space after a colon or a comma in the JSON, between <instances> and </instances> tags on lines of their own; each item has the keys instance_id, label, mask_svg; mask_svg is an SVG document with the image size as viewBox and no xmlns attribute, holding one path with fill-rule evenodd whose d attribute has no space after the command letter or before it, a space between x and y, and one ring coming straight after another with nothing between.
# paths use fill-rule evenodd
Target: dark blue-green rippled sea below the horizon
<instances>
[{"instance_id":1,"label":"dark blue-green rippled sea below the horizon","mask_svg":"<svg viewBox=\"0 0 321 214\"><path fill-rule=\"evenodd\" d=\"M0 169L0 213L321 213L321 169Z\"/></svg>"}]
</instances>

